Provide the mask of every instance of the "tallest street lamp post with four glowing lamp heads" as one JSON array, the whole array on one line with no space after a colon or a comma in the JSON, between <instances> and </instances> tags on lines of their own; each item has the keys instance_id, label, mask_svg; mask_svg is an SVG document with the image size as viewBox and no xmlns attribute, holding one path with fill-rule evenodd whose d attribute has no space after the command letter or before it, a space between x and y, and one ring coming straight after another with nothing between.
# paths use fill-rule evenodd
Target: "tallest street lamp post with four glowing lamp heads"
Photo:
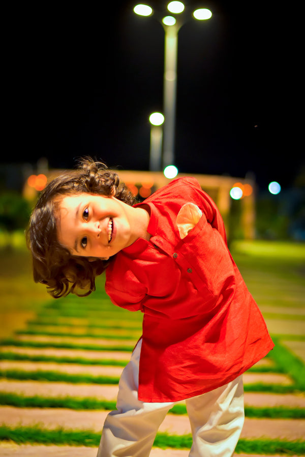
<instances>
[{"instance_id":1,"label":"tallest street lamp post with four glowing lamp heads","mask_svg":"<svg viewBox=\"0 0 305 457\"><path fill-rule=\"evenodd\" d=\"M182 2L170 2L167 5L170 16L161 15L148 5L137 5L134 12L141 16L156 14L164 31L164 86L163 86L163 168L173 165L175 161L175 121L176 121L176 93L177 93L177 49L178 31L186 22L181 13L185 6ZM193 12L195 19L209 19L212 13L206 8L197 9Z\"/></svg>"}]
</instances>

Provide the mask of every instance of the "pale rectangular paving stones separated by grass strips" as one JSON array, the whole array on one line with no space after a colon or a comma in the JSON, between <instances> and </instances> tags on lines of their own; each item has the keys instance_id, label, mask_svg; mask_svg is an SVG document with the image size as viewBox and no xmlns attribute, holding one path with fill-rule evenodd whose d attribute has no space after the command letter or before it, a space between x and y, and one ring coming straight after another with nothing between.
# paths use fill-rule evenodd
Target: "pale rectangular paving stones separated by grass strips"
<instances>
[{"instance_id":1,"label":"pale rectangular paving stones separated by grass strips","mask_svg":"<svg viewBox=\"0 0 305 457\"><path fill-rule=\"evenodd\" d=\"M305 320L296 319L294 316L305 315L305 309L302 308L283 308L273 306L262 306L261 310L266 313L266 323L268 330L274 335L296 335L305 334ZM277 314L287 314L287 319ZM274 316L273 316L274 315ZM289 316L290 315L290 316ZM68 318L67 318L68 321ZM72 322L72 319L70 319ZM80 324L80 320L75 320L75 325ZM44 326L44 328L46 328ZM57 327L56 327L57 328ZM57 328L58 329L58 328ZM71 334L80 329L72 329ZM101 330L101 333L103 330ZM134 331L131 331L134 334ZM124 333L124 332L122 332ZM133 347L136 344L135 339L116 339L109 340L106 338L89 338L89 337L65 337L65 336L43 336L43 335L19 335L17 339L21 341L37 341L47 343L77 343L79 345L93 344L101 346L127 346ZM292 341L283 338L281 344L284 344L290 351L294 352L303 362L305 362L305 342ZM84 357L97 360L99 358L109 358L113 360L123 360L128 362L131 350L125 351L89 351L82 349L61 349L61 348L26 348L15 346L4 346L1 351L11 351L20 354L29 355L49 355L56 357ZM257 367L272 367L273 361L265 357ZM22 370L49 370L60 371L65 373L88 373L95 376L116 376L118 377L123 370L122 367L80 365L80 364L56 364L56 363L32 363L29 361L2 361L2 369L22 369ZM287 375L277 373L245 373L243 376L245 384L267 383L290 385L292 380ZM39 382L39 381L17 381L17 380L0 380L0 391L7 393L20 393L25 396L46 396L46 397L95 397L98 399L107 399L115 401L117 396L117 385L98 385L98 384L71 384L62 382ZM267 394L267 393L245 393L245 405L254 407L305 407L305 394ZM73 411L68 409L41 409L41 408L13 408L0 407L0 416L5 417L7 425L33 425L39 423L41 427L56 428L62 426L66 429L91 429L100 433L103 427L108 411ZM1 421L2 419L0 419ZM167 414L161 427L160 432L169 432L176 434L191 433L189 419L186 415L178 416ZM305 419L255 419L246 418L241 438L278 438L278 439L304 439ZM96 457L97 448L86 447L69 447L69 446L36 446L22 445L14 443L0 443L0 456L14 457L36 457L44 455L45 457ZM153 449L150 457L187 457L188 450L173 449ZM234 454L235 457L264 457L262 455ZM278 457L273 455L272 457Z\"/></svg>"}]
</instances>

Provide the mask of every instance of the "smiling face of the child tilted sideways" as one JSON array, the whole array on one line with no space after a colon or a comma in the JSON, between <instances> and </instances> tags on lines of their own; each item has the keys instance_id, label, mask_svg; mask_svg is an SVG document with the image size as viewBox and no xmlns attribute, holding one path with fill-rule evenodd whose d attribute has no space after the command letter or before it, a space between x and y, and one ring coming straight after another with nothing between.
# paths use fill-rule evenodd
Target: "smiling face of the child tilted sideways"
<instances>
[{"instance_id":1,"label":"smiling face of the child tilted sideways","mask_svg":"<svg viewBox=\"0 0 305 457\"><path fill-rule=\"evenodd\" d=\"M114 197L67 195L56 212L58 240L73 255L107 259L134 241L127 207Z\"/></svg>"}]
</instances>

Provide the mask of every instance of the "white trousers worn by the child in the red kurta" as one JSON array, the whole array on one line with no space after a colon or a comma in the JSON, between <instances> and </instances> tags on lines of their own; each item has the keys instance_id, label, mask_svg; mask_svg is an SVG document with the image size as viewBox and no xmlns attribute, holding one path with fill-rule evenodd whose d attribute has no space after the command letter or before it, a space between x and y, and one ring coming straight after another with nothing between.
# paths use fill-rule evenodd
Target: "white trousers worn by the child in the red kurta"
<instances>
[{"instance_id":1,"label":"white trousers worn by the child in the red kurta","mask_svg":"<svg viewBox=\"0 0 305 457\"><path fill-rule=\"evenodd\" d=\"M174 402L138 400L141 341L119 381L117 411L105 420L97 457L148 457L157 431ZM193 445L190 457L232 457L245 419L242 376L186 400Z\"/></svg>"}]
</instances>

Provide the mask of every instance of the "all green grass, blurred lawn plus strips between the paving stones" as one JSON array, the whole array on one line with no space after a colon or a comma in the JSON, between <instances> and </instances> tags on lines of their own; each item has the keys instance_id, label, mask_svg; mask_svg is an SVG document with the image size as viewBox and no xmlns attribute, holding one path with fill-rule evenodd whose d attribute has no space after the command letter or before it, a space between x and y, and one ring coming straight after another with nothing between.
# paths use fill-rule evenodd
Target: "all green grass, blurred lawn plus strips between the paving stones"
<instances>
[{"instance_id":1,"label":"all green grass, blurred lawn plus strips between the paving stones","mask_svg":"<svg viewBox=\"0 0 305 457\"><path fill-rule=\"evenodd\" d=\"M237 263L243 277L246 280L249 290L259 305L273 306L275 313L264 313L266 318L299 320L303 321L304 316L297 314L297 308L304 306L305 281L304 281L304 259L305 244L294 243L272 243L272 242L235 242L231 247L233 258ZM32 279L31 269L29 268L29 257L25 250L0 252L0 288L2 300L0 304L0 314L12 312L12 324L16 321L16 316L20 311L33 311L35 316L27 318L27 326L14 327L14 332L10 337L3 338L2 344L15 347L37 347L37 348L68 348L68 349L87 349L87 350L106 350L106 351L126 351L131 353L134 344L128 345L98 345L81 343L61 343L39 341L21 341L13 337L20 335L57 335L64 337L72 336L74 332L80 337L107 338L115 335L115 339L120 330L130 330L134 335L141 330L142 314L130 313L127 310L113 306L107 298L104 290L104 280L102 276L98 278L98 290L87 298L69 296L65 299L53 300L46 293L44 286L35 284ZM279 312L279 308L293 307L293 314ZM1 315L0 315L1 319ZM71 321L70 321L71 319ZM83 319L83 321L81 321ZM31 323L30 323L31 322ZM54 328L51 329L51 326ZM83 327L83 335L80 329ZM66 329L65 329L66 328ZM26 329L26 330L24 330ZM51 331L50 331L51 330ZM71 331L70 331L71 330ZM96 332L101 332L97 335ZM103 333L102 333L103 332ZM113 332L113 333L112 333ZM278 333L278 332L277 332ZM293 332L291 332L293 333ZM106 335L107 334L107 335ZM121 338L128 339L121 335ZM286 347L281 344L281 339L305 340L305 336L299 335L279 335L273 338L276 343L275 349L269 353L273 364L270 367L253 367L252 372L256 373L285 373L291 379L292 385L280 384L246 384L246 391L270 392L270 393L299 393L305 391L305 368L302 361L293 355ZM52 357L44 355L15 354L13 351L0 353L2 360L32 360L59 363L77 363L83 365L116 365L124 366L126 361L112 360L85 360L82 357ZM129 354L126 354L129 358ZM52 371L25 372L21 370L3 370L0 375L10 379L35 379L65 382L85 382L85 383L113 383L117 384L118 378L92 376L92 375L70 375ZM37 407L37 408L69 408L72 410L113 410L115 402L103 401L95 398L45 398L40 396L27 397L18 394L7 394L0 392L0 404L10 405L18 408ZM184 405L175 405L171 410L172 414L186 414ZM272 407L255 408L246 407L247 417L253 418L297 418L304 419L304 408ZM40 427L7 427L0 428L0 440L12 440L18 444L70 444L98 446L100 433L90 431L67 431L63 429L44 430ZM192 438L190 435L173 436L158 433L155 446L164 448L190 449ZM304 441L289 440L239 440L236 452L255 453L255 454L281 454L281 455L304 455Z\"/></svg>"}]
</instances>

